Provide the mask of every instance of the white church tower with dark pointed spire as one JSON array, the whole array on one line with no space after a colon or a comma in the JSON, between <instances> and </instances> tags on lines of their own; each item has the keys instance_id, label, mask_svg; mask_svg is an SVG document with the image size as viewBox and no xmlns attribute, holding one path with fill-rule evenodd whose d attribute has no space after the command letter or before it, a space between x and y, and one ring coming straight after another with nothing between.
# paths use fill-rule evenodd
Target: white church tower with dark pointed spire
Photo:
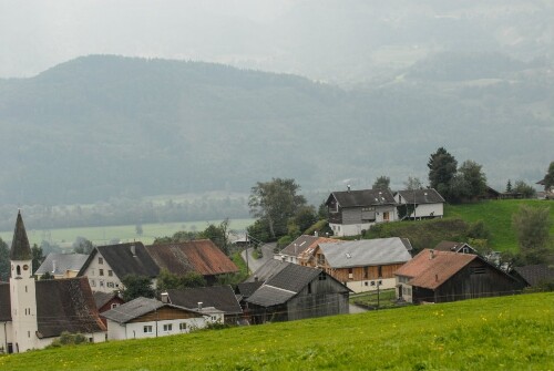
<instances>
[{"instance_id":1,"label":"white church tower with dark pointed spire","mask_svg":"<svg viewBox=\"0 0 554 371\"><path fill-rule=\"evenodd\" d=\"M11 319L13 351L24 352L37 348L37 296L32 276L32 253L25 227L18 213L10 251Z\"/></svg>"}]
</instances>

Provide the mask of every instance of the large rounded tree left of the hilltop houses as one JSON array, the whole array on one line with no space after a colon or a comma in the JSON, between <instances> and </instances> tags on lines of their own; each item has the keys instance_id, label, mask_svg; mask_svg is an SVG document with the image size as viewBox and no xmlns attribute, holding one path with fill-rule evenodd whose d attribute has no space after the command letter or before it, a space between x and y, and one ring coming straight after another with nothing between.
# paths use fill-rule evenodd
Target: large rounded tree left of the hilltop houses
<instances>
[{"instance_id":1,"label":"large rounded tree left of the hilltop houses","mask_svg":"<svg viewBox=\"0 0 554 371\"><path fill-rule=\"evenodd\" d=\"M297 194L299 189L295 179L281 178L258 182L252 187L248 198L250 214L267 221L273 239L287 234L288 218L295 216L298 207L306 205L306 198Z\"/></svg>"}]
</instances>

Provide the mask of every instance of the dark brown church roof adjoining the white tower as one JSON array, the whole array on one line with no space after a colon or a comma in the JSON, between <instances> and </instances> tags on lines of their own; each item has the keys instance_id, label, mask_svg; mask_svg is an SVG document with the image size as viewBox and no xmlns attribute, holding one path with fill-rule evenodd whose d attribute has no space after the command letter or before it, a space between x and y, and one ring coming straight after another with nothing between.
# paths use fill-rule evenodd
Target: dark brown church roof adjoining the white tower
<instances>
[{"instance_id":1,"label":"dark brown church roof adjoining the white tower","mask_svg":"<svg viewBox=\"0 0 554 371\"><path fill-rule=\"evenodd\" d=\"M106 331L85 277L37 281L39 337Z\"/></svg>"}]
</instances>

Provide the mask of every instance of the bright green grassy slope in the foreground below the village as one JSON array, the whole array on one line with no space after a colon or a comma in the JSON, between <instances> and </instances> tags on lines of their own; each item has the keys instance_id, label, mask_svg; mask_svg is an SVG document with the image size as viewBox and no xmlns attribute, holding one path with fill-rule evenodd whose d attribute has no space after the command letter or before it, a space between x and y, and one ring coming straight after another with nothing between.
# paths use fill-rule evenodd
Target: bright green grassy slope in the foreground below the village
<instances>
[{"instance_id":1,"label":"bright green grassy slope in the foreground below the village","mask_svg":"<svg viewBox=\"0 0 554 371\"><path fill-rule=\"evenodd\" d=\"M0 357L0 370L553 370L554 292Z\"/></svg>"}]
</instances>

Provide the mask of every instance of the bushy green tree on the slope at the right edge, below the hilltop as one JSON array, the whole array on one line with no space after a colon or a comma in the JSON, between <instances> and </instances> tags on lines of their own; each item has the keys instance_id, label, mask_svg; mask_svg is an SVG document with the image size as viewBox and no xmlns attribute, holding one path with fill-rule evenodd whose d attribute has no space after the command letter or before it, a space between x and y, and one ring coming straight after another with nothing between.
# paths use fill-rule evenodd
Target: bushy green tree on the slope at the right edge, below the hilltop
<instances>
[{"instance_id":1,"label":"bushy green tree on the slope at the right edge, below the hilltop","mask_svg":"<svg viewBox=\"0 0 554 371\"><path fill-rule=\"evenodd\" d=\"M541 260L547 258L551 247L550 207L521 205L517 213L512 216L512 225L525 260L529 264L544 262Z\"/></svg>"}]
</instances>

